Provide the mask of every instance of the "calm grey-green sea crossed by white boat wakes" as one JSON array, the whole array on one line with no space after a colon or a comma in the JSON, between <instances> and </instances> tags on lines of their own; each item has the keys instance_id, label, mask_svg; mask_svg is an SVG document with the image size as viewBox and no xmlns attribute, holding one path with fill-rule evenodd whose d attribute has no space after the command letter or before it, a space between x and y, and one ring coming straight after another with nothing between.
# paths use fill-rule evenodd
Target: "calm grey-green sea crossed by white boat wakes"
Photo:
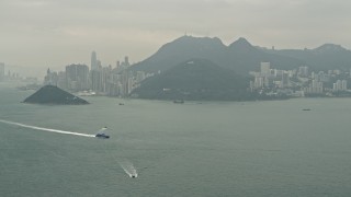
<instances>
[{"instance_id":1,"label":"calm grey-green sea crossed by white boat wakes","mask_svg":"<svg viewBox=\"0 0 351 197\"><path fill-rule=\"evenodd\" d=\"M92 135L107 126L111 139L0 123L1 197L351 196L351 99L21 103L32 93L0 83L0 119Z\"/></svg>"}]
</instances>

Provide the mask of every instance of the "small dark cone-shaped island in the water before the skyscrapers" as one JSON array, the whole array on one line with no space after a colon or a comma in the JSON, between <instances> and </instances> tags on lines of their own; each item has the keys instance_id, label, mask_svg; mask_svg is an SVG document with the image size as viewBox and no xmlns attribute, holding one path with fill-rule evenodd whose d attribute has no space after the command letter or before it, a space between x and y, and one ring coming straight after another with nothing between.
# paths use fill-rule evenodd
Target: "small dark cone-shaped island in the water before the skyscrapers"
<instances>
[{"instance_id":1,"label":"small dark cone-shaped island in the water before the skyscrapers","mask_svg":"<svg viewBox=\"0 0 351 197\"><path fill-rule=\"evenodd\" d=\"M57 86L45 85L23 101L31 104L83 105L86 100L75 96Z\"/></svg>"}]
</instances>

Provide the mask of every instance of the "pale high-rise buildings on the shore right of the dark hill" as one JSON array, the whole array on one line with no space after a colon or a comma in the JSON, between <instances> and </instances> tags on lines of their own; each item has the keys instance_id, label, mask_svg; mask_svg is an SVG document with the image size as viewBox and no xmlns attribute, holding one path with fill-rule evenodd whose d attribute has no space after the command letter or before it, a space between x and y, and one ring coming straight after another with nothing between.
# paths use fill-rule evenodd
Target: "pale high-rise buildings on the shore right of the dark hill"
<instances>
[{"instance_id":1,"label":"pale high-rise buildings on the shore right of the dark hill","mask_svg":"<svg viewBox=\"0 0 351 197\"><path fill-rule=\"evenodd\" d=\"M265 92L267 94L284 93L293 96L329 95L348 93L350 72L341 70L312 71L308 67L295 70L271 69L270 62L261 62L260 71L251 71L251 91Z\"/></svg>"}]
</instances>

